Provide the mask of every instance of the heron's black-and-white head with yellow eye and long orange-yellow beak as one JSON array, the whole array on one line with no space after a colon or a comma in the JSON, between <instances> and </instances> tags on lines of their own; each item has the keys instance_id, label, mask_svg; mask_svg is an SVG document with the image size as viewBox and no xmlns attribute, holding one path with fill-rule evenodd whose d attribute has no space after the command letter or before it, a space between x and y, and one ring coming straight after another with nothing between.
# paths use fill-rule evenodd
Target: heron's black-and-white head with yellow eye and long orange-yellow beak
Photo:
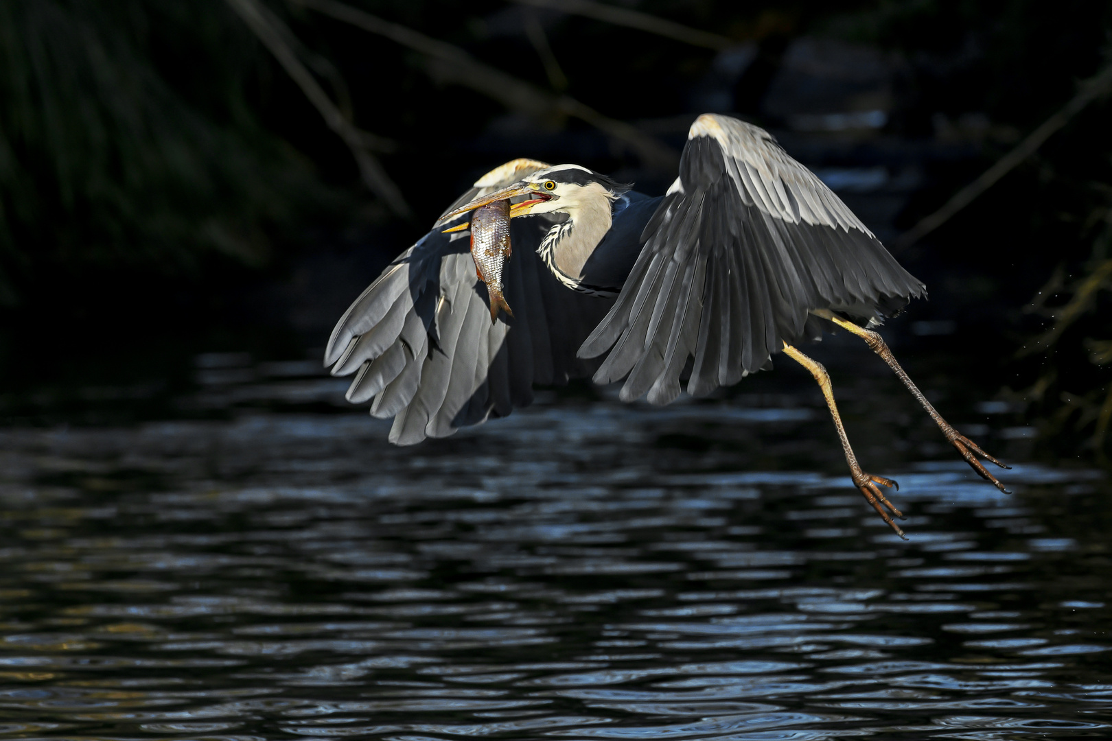
<instances>
[{"instance_id":1,"label":"heron's black-and-white head with yellow eye and long orange-yellow beak","mask_svg":"<svg viewBox=\"0 0 1112 741\"><path fill-rule=\"evenodd\" d=\"M446 213L438 223L450 221L480 206L506 200L510 203L512 219L538 213L566 213L574 219L584 209L603 204L609 208L609 202L626 190L628 187L578 164L557 164L538 170L508 188L480 196L451 213Z\"/></svg>"}]
</instances>

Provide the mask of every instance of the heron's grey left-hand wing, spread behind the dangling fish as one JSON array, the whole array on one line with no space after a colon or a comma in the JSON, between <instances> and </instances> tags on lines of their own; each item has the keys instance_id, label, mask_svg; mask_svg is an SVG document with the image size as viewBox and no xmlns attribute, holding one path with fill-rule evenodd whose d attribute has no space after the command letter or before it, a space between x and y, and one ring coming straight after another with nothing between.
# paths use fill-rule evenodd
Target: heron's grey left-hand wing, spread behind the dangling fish
<instances>
[{"instance_id":1,"label":"heron's grey left-hand wing, spread behind the dangling fish","mask_svg":"<svg viewBox=\"0 0 1112 741\"><path fill-rule=\"evenodd\" d=\"M499 170L513 180L476 187L524 177L512 164ZM533 401L534 383L563 384L597 368L575 352L613 301L569 291L545 268L536 249L549 226L540 218L510 222L513 256L503 282L513 318L492 323L468 232L431 231L336 324L325 364L332 375L356 373L349 401L374 399L371 414L394 417L391 442L447 437L492 414L505 417Z\"/></svg>"}]
</instances>

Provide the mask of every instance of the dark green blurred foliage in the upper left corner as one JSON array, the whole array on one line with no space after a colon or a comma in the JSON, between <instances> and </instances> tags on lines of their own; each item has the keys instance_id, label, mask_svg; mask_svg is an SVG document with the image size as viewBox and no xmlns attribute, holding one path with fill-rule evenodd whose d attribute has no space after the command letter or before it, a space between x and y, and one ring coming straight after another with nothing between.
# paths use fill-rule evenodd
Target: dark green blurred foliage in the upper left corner
<instances>
[{"instance_id":1,"label":"dark green blurred foliage in the upper left corner","mask_svg":"<svg viewBox=\"0 0 1112 741\"><path fill-rule=\"evenodd\" d=\"M0 3L0 302L59 271L264 263L327 196L248 104L269 74L218 0Z\"/></svg>"}]
</instances>

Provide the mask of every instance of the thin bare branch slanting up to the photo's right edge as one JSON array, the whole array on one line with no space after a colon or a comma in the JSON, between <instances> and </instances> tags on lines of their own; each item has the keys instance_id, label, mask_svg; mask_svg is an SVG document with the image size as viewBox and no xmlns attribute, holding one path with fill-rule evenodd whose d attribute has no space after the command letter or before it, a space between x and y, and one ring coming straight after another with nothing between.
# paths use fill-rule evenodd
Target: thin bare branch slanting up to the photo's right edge
<instances>
[{"instance_id":1,"label":"thin bare branch slanting up to the photo's right edge","mask_svg":"<svg viewBox=\"0 0 1112 741\"><path fill-rule=\"evenodd\" d=\"M1011 172L1017 164L1023 162L1037 151L1043 143L1056 133L1062 127L1070 122L1074 116L1080 113L1089 103L1093 102L1102 94L1112 90L1112 67L1106 67L1095 77L1081 83L1078 94L1068 102L1062 110L1051 116L1042 122L1037 129L1027 134L1027 138L1019 143L1012 151L1000 158L995 164L985 170L980 178L954 193L946 203L934 213L924 217L910 231L904 232L893 242L892 249L901 250L911 247L923 239L932 231L950 221L951 218L966 206L972 203L981 193L996 184L996 181Z\"/></svg>"}]
</instances>

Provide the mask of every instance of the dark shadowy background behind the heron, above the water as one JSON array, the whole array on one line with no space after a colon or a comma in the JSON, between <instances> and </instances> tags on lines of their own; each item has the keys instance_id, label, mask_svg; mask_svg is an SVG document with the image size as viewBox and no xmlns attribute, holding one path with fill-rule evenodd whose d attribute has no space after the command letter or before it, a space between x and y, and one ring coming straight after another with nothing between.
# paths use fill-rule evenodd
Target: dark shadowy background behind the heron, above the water
<instances>
[{"instance_id":1,"label":"dark shadowy background behind the heron, above the water","mask_svg":"<svg viewBox=\"0 0 1112 741\"><path fill-rule=\"evenodd\" d=\"M610 3L736 41L713 50L513 2L350 4L676 151L701 112L763 126L888 244L1103 69L1112 30L1112 4L1076 0ZM348 148L222 0L3 3L8 423L225 413L180 400L214 371L234 382L264 361L318 358L378 270L508 159L577 162L649 193L674 177L580 120L438 83L394 41L266 7L339 108L391 142L378 157L413 216L364 188ZM1049 457L1101 458L1112 415L1110 113L1096 100L896 252L931 294L885 332L905 364L995 400Z\"/></svg>"}]
</instances>

